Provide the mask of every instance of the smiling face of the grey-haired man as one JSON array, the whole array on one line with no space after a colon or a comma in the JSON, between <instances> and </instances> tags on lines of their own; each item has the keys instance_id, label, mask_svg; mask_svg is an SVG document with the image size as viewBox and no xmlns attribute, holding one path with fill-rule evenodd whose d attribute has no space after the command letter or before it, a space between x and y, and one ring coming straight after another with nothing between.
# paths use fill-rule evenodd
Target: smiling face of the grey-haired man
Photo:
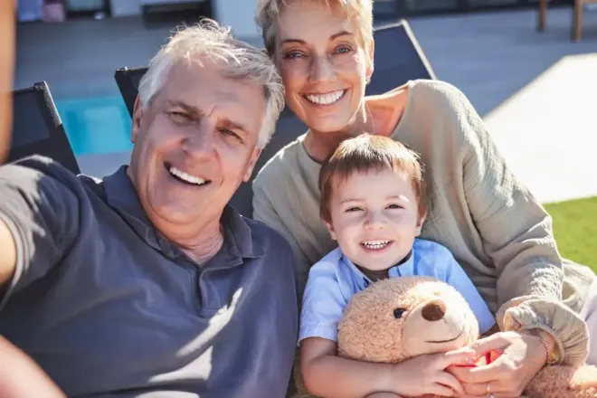
<instances>
[{"instance_id":1,"label":"smiling face of the grey-haired man","mask_svg":"<svg viewBox=\"0 0 597 398\"><path fill-rule=\"evenodd\" d=\"M147 109L137 103L133 115L129 175L166 236L172 228L192 232L219 222L260 154L261 85L227 78L213 62L203 65L175 64Z\"/></svg>"}]
</instances>

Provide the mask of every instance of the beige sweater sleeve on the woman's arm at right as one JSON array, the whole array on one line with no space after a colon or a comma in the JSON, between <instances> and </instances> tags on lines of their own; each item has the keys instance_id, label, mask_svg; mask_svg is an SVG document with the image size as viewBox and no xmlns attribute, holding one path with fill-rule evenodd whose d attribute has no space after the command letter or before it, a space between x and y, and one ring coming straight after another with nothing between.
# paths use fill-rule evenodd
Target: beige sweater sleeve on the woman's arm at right
<instances>
[{"instance_id":1,"label":"beige sweater sleeve on the woman's arm at right","mask_svg":"<svg viewBox=\"0 0 597 398\"><path fill-rule=\"evenodd\" d=\"M454 89L455 130L461 146L463 188L471 217L497 275L502 330L540 328L554 336L564 364L582 364L586 326L562 303L564 270L548 213L516 180L469 100Z\"/></svg>"}]
</instances>

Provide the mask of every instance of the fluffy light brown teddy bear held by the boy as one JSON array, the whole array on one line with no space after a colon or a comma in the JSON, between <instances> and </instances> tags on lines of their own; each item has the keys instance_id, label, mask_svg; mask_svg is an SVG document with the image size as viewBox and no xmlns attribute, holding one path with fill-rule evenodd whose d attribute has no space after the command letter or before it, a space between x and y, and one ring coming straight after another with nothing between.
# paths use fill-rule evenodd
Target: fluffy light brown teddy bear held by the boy
<instances>
[{"instance_id":1,"label":"fluffy light brown teddy bear held by the boy","mask_svg":"<svg viewBox=\"0 0 597 398\"><path fill-rule=\"evenodd\" d=\"M338 355L346 358L399 363L468 346L478 338L477 319L456 289L441 280L414 276L380 280L353 296L338 325L337 343ZM595 398L597 367L546 366L523 396Z\"/></svg>"}]
</instances>

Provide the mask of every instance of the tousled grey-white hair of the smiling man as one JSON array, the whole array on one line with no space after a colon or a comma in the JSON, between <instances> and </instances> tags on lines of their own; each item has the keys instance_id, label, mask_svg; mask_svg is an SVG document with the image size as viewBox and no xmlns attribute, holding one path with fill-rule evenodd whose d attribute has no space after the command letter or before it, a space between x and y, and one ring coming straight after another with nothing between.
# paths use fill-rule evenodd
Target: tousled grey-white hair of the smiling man
<instances>
[{"instance_id":1,"label":"tousled grey-white hair of the smiling man","mask_svg":"<svg viewBox=\"0 0 597 398\"><path fill-rule=\"evenodd\" d=\"M267 104L257 146L265 147L284 108L280 73L265 52L237 40L229 27L210 19L179 29L156 53L139 83L141 106L147 108L176 62L201 62L201 59L217 62L226 76L255 81L263 86Z\"/></svg>"}]
</instances>

